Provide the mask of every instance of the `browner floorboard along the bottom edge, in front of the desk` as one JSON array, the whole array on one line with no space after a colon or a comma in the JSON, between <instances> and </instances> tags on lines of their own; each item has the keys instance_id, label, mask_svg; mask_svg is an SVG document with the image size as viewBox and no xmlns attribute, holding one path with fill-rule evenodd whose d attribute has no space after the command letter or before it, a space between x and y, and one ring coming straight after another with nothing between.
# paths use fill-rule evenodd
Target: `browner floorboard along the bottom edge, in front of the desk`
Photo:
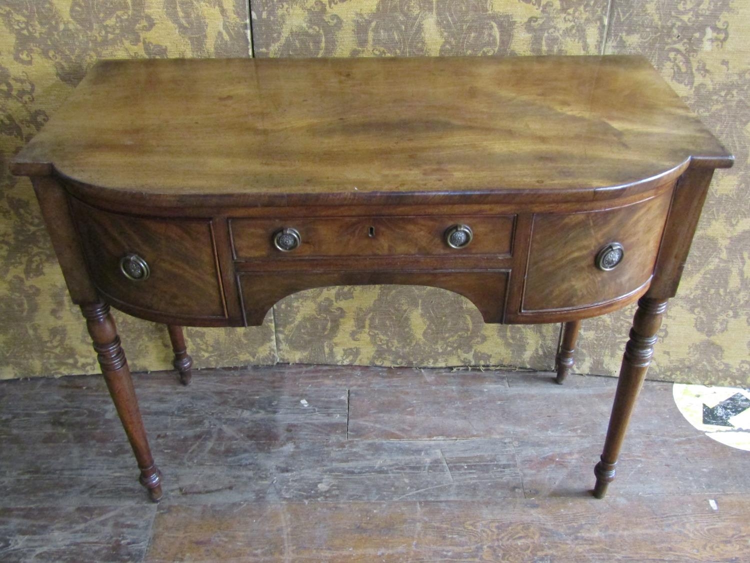
<instances>
[{"instance_id":1,"label":"browner floorboard along the bottom edge, in front of the desk","mask_svg":"<svg viewBox=\"0 0 750 563\"><path fill-rule=\"evenodd\" d=\"M160 508L147 561L742 561L750 496Z\"/></svg>"}]
</instances>

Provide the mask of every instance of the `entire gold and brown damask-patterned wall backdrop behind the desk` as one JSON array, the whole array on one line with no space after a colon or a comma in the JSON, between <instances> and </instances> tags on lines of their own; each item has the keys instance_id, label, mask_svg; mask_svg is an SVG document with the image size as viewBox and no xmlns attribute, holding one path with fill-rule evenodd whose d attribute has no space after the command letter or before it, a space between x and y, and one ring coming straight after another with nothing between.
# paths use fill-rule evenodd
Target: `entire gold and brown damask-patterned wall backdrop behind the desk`
<instances>
[{"instance_id":1,"label":"entire gold and brown damask-patterned wall backdrop behind the desk","mask_svg":"<svg viewBox=\"0 0 750 563\"><path fill-rule=\"evenodd\" d=\"M0 0L0 377L95 372L26 180L7 159L95 59L640 53L736 155L715 183L649 376L750 384L750 9L743 0ZM31 5L31 7L30 7ZM43 8L42 8L43 7ZM5 33L5 30L9 33ZM118 314L133 369L166 369L166 331ZM616 375L632 309L586 321L577 371ZM559 327L485 325L435 288L325 288L260 328L188 329L202 366L513 365L550 369Z\"/></svg>"}]
</instances>

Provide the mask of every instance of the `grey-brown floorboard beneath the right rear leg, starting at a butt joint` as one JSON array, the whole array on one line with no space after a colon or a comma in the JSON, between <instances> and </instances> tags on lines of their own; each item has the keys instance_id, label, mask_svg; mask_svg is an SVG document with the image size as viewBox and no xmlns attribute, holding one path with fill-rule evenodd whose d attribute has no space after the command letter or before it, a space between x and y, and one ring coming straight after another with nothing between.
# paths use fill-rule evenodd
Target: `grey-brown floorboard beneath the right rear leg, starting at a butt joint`
<instances>
[{"instance_id":1,"label":"grey-brown floorboard beneath the right rear leg, starting at a butt joint","mask_svg":"<svg viewBox=\"0 0 750 563\"><path fill-rule=\"evenodd\" d=\"M435 387L414 385L394 393L387 387L353 387L350 391L349 438L526 438L594 436L607 431L612 378L573 377L563 386L550 385L550 375L508 375L509 387L460 378ZM692 427L676 408L662 408L660 425L646 417L649 405L671 403L669 384L649 384L648 398L631 420L638 435L685 437Z\"/></svg>"}]
</instances>

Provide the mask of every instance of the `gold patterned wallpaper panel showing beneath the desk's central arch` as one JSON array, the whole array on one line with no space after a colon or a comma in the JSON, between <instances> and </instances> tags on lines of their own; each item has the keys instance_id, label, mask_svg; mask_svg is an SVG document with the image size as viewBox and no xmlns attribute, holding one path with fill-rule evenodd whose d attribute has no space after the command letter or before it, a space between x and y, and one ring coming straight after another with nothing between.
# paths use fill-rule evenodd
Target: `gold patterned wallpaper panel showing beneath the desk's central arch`
<instances>
[{"instance_id":1,"label":"gold patterned wallpaper panel showing beneath the desk's central arch","mask_svg":"<svg viewBox=\"0 0 750 563\"><path fill-rule=\"evenodd\" d=\"M275 307L279 360L552 369L559 327L484 324L465 297L383 285L304 291Z\"/></svg>"}]
</instances>

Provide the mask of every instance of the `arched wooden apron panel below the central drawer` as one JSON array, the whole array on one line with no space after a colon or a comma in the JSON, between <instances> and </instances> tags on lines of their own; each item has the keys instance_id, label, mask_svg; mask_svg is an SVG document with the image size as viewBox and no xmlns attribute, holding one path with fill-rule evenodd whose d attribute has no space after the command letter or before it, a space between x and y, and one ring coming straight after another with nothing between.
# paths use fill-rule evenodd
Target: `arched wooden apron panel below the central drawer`
<instances>
[{"instance_id":1,"label":"arched wooden apron panel below the central drawer","mask_svg":"<svg viewBox=\"0 0 750 563\"><path fill-rule=\"evenodd\" d=\"M263 323L278 300L298 291L334 285L429 285L467 297L487 323L502 322L508 270L450 272L243 272L239 274L245 320Z\"/></svg>"}]
</instances>

